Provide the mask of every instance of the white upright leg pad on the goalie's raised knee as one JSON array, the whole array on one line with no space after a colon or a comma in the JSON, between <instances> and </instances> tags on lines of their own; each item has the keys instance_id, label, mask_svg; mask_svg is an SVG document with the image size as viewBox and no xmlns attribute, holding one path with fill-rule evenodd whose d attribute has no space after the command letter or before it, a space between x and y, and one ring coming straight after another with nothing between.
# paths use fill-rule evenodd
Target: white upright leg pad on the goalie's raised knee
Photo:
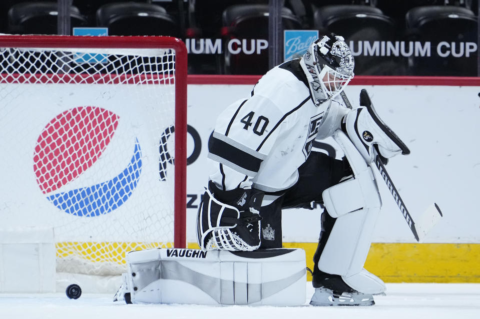
<instances>
[{"instance_id":1,"label":"white upright leg pad on the goalie's raised knee","mask_svg":"<svg viewBox=\"0 0 480 319\"><path fill-rule=\"evenodd\" d=\"M381 293L385 290L383 281L363 269L381 208L378 187L371 168L345 133L336 131L333 138L344 151L354 177L323 192L326 210L337 219L318 268L341 275L359 292Z\"/></svg>"}]
</instances>

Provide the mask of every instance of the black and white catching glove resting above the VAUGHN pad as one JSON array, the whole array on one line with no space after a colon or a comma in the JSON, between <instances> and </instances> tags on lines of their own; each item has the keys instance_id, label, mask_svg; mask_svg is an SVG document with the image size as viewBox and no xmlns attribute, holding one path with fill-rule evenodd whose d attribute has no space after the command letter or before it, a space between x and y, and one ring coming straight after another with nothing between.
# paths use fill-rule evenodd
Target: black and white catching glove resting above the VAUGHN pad
<instances>
[{"instance_id":1,"label":"black and white catching glove resting above the VAUGHN pad","mask_svg":"<svg viewBox=\"0 0 480 319\"><path fill-rule=\"evenodd\" d=\"M260 206L264 193L223 191L210 181L197 214L197 242L203 250L251 251L260 247Z\"/></svg>"}]
</instances>

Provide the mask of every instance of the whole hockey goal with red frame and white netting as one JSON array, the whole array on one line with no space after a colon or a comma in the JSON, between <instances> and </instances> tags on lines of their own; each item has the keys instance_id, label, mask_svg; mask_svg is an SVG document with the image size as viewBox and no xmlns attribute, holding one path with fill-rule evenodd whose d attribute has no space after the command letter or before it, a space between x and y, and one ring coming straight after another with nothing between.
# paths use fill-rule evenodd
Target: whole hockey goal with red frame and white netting
<instances>
[{"instance_id":1,"label":"whole hockey goal with red frame and white netting","mask_svg":"<svg viewBox=\"0 0 480 319\"><path fill-rule=\"evenodd\" d=\"M0 36L0 68L0 229L53 228L57 272L186 246L183 42Z\"/></svg>"}]
</instances>

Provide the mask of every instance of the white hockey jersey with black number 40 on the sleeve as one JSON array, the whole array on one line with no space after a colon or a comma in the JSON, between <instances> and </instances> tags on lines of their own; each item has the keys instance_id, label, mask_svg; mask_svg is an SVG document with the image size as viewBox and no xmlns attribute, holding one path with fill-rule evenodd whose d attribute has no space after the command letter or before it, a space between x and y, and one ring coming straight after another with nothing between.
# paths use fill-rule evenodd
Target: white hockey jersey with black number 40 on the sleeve
<instances>
[{"instance_id":1,"label":"white hockey jersey with black number 40 on the sleeve","mask_svg":"<svg viewBox=\"0 0 480 319\"><path fill-rule=\"evenodd\" d=\"M328 100L315 106L299 59L273 68L251 97L219 116L209 139L208 157L215 161L210 179L223 190L288 189L297 182L297 169L308 158L319 129L331 122L326 116L332 107L340 109L340 103ZM340 121L335 122L339 127Z\"/></svg>"}]
</instances>

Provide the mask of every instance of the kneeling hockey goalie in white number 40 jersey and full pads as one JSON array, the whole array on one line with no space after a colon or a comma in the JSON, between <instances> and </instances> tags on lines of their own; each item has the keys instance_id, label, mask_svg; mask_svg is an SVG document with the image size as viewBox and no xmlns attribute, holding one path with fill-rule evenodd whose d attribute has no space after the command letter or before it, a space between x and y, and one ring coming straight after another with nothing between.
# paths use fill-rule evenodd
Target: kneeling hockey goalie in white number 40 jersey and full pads
<instances>
[{"instance_id":1,"label":"kneeling hockey goalie in white number 40 jersey and full pads","mask_svg":"<svg viewBox=\"0 0 480 319\"><path fill-rule=\"evenodd\" d=\"M302 304L305 253L282 249L281 211L321 202L310 304L373 305L385 290L363 268L381 208L373 149L385 162L409 151L371 105L351 109L340 98L353 69L344 39L327 34L226 108L208 142L212 170L197 215L202 257L189 249L131 252L115 299ZM312 150L327 137L342 159Z\"/></svg>"}]
</instances>

